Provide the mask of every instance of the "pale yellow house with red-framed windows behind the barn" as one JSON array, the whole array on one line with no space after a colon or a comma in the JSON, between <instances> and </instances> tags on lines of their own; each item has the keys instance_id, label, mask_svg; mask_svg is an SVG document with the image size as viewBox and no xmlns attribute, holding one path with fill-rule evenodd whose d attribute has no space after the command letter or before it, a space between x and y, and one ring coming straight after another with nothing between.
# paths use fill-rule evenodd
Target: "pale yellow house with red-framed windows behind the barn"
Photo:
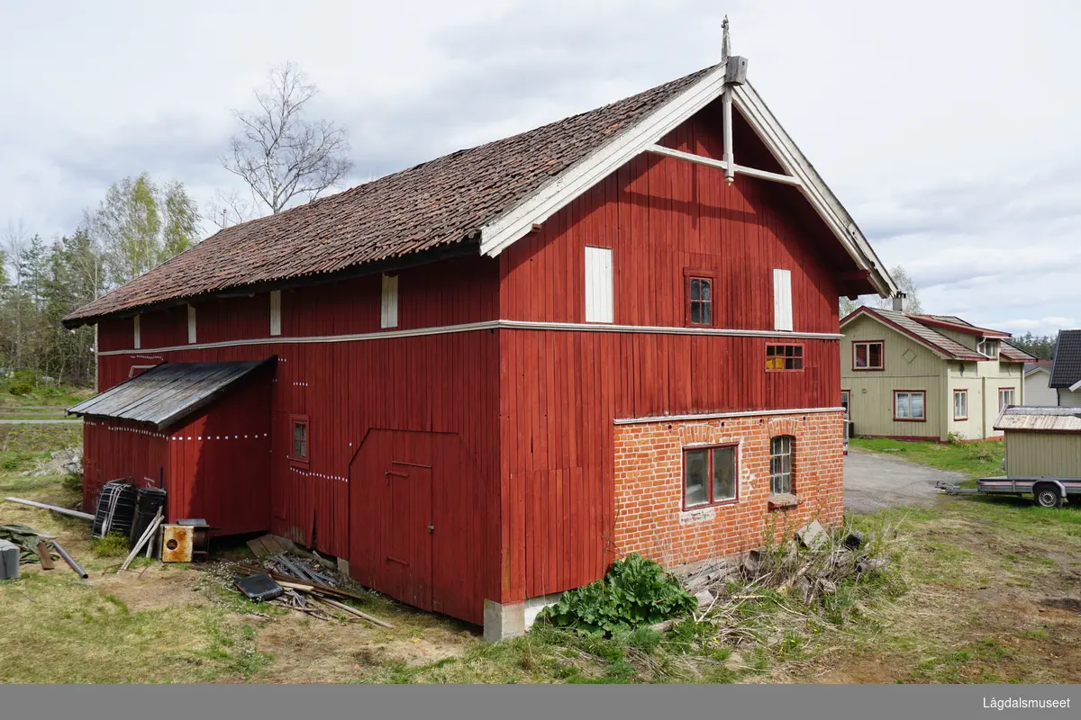
<instances>
[{"instance_id":1,"label":"pale yellow house with red-framed windows behind the barn","mask_svg":"<svg viewBox=\"0 0 1081 720\"><path fill-rule=\"evenodd\" d=\"M841 321L841 397L855 435L946 441L998 437L999 411L1025 403L1036 358L1010 335L953 315L858 308Z\"/></svg>"}]
</instances>

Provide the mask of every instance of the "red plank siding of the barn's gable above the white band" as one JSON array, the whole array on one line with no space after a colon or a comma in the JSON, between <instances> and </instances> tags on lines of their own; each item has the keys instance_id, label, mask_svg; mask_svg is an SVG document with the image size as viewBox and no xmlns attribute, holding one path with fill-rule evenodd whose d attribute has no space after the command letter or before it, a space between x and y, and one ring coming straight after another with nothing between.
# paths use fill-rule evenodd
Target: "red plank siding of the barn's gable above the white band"
<instances>
[{"instance_id":1,"label":"red plank siding of the barn's gable above the white band","mask_svg":"<svg viewBox=\"0 0 1081 720\"><path fill-rule=\"evenodd\" d=\"M711 118L696 116L662 144L719 159ZM616 324L684 326L683 270L693 268L717 279L716 327L772 330L773 270L782 268L792 272L793 329L837 332L836 269L817 249L817 229L792 217L762 180L728 186L722 171L639 155L499 256L501 316L584 322L584 248L592 245L613 248Z\"/></svg>"}]
</instances>

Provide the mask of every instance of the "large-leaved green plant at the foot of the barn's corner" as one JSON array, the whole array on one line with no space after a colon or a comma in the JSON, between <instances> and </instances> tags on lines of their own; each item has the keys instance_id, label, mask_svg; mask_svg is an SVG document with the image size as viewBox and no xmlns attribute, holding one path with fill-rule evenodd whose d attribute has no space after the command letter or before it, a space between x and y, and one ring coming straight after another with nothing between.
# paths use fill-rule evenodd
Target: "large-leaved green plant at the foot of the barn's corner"
<instances>
[{"instance_id":1,"label":"large-leaved green plant at the foot of the barn's corner","mask_svg":"<svg viewBox=\"0 0 1081 720\"><path fill-rule=\"evenodd\" d=\"M611 636L684 615L696 604L657 562L631 553L613 562L601 580L563 593L538 619L558 627Z\"/></svg>"}]
</instances>

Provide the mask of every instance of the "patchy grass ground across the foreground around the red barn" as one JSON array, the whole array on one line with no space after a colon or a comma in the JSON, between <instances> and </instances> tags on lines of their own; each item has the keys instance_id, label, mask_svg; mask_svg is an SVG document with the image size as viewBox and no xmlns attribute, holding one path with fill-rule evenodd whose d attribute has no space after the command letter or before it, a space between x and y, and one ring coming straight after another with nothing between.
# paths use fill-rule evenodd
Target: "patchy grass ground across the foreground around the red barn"
<instances>
[{"instance_id":1,"label":"patchy grass ground across the foreground around the red barn","mask_svg":"<svg viewBox=\"0 0 1081 720\"><path fill-rule=\"evenodd\" d=\"M64 478L21 474L44 454L0 454L0 495L74 503ZM23 566L0 583L13 621L0 624L0 682L1081 682L1081 511L942 498L849 521L892 538L891 569L810 611L765 590L724 623L664 635L537 626L486 644L375 593L360 607L393 629L252 604L216 563L141 560L142 575L118 576L122 547L85 522L0 503L0 522L57 534L90 572Z\"/></svg>"}]
</instances>

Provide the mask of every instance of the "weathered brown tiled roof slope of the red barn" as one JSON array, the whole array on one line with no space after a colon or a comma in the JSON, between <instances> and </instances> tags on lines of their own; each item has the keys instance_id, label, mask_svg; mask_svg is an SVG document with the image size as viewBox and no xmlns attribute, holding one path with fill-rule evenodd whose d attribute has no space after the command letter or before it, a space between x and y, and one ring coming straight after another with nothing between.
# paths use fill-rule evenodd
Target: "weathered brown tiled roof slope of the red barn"
<instances>
[{"instance_id":1,"label":"weathered brown tiled roof slope of the red barn","mask_svg":"<svg viewBox=\"0 0 1081 720\"><path fill-rule=\"evenodd\" d=\"M64 318L107 315L230 288L286 284L475 240L513 207L712 68L602 108L233 226Z\"/></svg>"}]
</instances>

